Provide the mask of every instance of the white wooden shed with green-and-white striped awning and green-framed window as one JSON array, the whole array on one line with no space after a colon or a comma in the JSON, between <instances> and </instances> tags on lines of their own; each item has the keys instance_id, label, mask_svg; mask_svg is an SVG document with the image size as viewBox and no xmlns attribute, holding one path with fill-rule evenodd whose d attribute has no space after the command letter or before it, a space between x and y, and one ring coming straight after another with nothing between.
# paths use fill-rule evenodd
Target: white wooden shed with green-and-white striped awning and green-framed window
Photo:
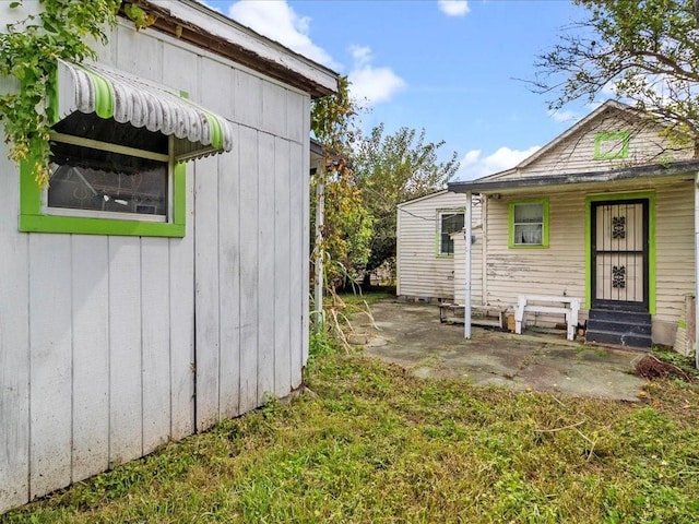
<instances>
[{"instance_id":1,"label":"white wooden shed with green-and-white striped awning and green-framed window","mask_svg":"<svg viewBox=\"0 0 699 524\"><path fill-rule=\"evenodd\" d=\"M301 382L310 102L336 74L140 3L154 26L59 64L50 188L0 144L0 513Z\"/></svg>"}]
</instances>

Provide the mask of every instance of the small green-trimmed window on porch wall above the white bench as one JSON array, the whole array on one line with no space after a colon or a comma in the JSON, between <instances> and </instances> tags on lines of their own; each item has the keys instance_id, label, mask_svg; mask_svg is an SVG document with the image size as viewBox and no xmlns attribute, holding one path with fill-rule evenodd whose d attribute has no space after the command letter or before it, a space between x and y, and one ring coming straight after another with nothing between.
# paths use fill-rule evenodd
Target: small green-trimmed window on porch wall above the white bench
<instances>
[{"instance_id":1,"label":"small green-trimmed window on porch wall above the white bench","mask_svg":"<svg viewBox=\"0 0 699 524\"><path fill-rule=\"evenodd\" d=\"M510 202L510 248L548 247L548 201Z\"/></svg>"}]
</instances>

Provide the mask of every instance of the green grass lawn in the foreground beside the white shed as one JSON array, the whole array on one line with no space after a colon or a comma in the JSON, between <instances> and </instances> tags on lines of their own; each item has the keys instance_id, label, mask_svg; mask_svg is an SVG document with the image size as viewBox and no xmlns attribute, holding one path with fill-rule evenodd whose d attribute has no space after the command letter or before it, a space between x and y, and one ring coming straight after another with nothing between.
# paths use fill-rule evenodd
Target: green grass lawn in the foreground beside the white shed
<instances>
[{"instance_id":1,"label":"green grass lawn in the foreground beside the white shed","mask_svg":"<svg viewBox=\"0 0 699 524\"><path fill-rule=\"evenodd\" d=\"M418 380L327 352L275 402L8 523L689 523L699 390L573 400Z\"/></svg>"}]
</instances>

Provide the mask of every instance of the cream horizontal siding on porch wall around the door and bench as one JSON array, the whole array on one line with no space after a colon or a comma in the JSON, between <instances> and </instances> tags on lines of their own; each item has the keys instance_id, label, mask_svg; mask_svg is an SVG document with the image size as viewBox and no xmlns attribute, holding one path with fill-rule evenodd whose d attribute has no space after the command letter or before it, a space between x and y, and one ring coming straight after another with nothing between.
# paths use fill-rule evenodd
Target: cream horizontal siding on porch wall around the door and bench
<instances>
[{"instance_id":1,"label":"cream horizontal siding on porch wall around the door and bench","mask_svg":"<svg viewBox=\"0 0 699 524\"><path fill-rule=\"evenodd\" d=\"M648 191L649 188L643 188ZM676 324L694 293L694 191L690 181L656 186L654 321ZM491 305L513 308L518 295L585 296L585 194L549 199L548 249L508 248L508 199L488 201L486 277ZM584 303L583 303L584 307ZM582 319L587 318L583 309ZM531 321L532 319L530 319ZM540 323L560 322L542 315Z\"/></svg>"}]
</instances>

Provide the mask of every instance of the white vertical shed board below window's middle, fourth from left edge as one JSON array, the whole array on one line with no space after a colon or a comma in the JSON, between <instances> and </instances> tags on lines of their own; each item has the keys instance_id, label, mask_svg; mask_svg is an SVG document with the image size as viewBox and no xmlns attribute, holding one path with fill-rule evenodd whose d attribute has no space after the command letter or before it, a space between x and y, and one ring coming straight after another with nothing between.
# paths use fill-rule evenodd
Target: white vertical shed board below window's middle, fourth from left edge
<instances>
[{"instance_id":1,"label":"white vertical shed board below window's middle, fourth from left edge","mask_svg":"<svg viewBox=\"0 0 699 524\"><path fill-rule=\"evenodd\" d=\"M141 239L109 237L109 464L143 452Z\"/></svg>"}]
</instances>

